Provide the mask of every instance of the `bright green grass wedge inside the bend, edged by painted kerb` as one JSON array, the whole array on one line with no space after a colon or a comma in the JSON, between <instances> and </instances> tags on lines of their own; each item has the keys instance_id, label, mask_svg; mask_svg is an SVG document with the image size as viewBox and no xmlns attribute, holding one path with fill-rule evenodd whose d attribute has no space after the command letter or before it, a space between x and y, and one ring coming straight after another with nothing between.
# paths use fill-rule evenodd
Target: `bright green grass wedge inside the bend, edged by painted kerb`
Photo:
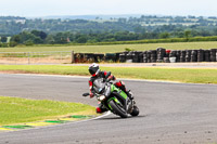
<instances>
[{"instance_id":1,"label":"bright green grass wedge inside the bend, edged by painted kerb","mask_svg":"<svg viewBox=\"0 0 217 144\"><path fill-rule=\"evenodd\" d=\"M0 96L0 126L44 120L81 112L92 115L94 108L79 103Z\"/></svg>"}]
</instances>

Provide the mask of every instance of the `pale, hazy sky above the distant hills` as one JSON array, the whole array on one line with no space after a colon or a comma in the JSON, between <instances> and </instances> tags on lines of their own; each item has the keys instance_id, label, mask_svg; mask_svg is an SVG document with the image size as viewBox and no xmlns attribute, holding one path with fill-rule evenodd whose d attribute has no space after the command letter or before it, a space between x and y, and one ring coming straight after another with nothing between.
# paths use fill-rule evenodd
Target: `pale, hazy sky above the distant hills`
<instances>
[{"instance_id":1,"label":"pale, hazy sky above the distant hills","mask_svg":"<svg viewBox=\"0 0 217 144\"><path fill-rule=\"evenodd\" d=\"M0 0L0 16L195 15L217 16L217 0Z\"/></svg>"}]
</instances>

